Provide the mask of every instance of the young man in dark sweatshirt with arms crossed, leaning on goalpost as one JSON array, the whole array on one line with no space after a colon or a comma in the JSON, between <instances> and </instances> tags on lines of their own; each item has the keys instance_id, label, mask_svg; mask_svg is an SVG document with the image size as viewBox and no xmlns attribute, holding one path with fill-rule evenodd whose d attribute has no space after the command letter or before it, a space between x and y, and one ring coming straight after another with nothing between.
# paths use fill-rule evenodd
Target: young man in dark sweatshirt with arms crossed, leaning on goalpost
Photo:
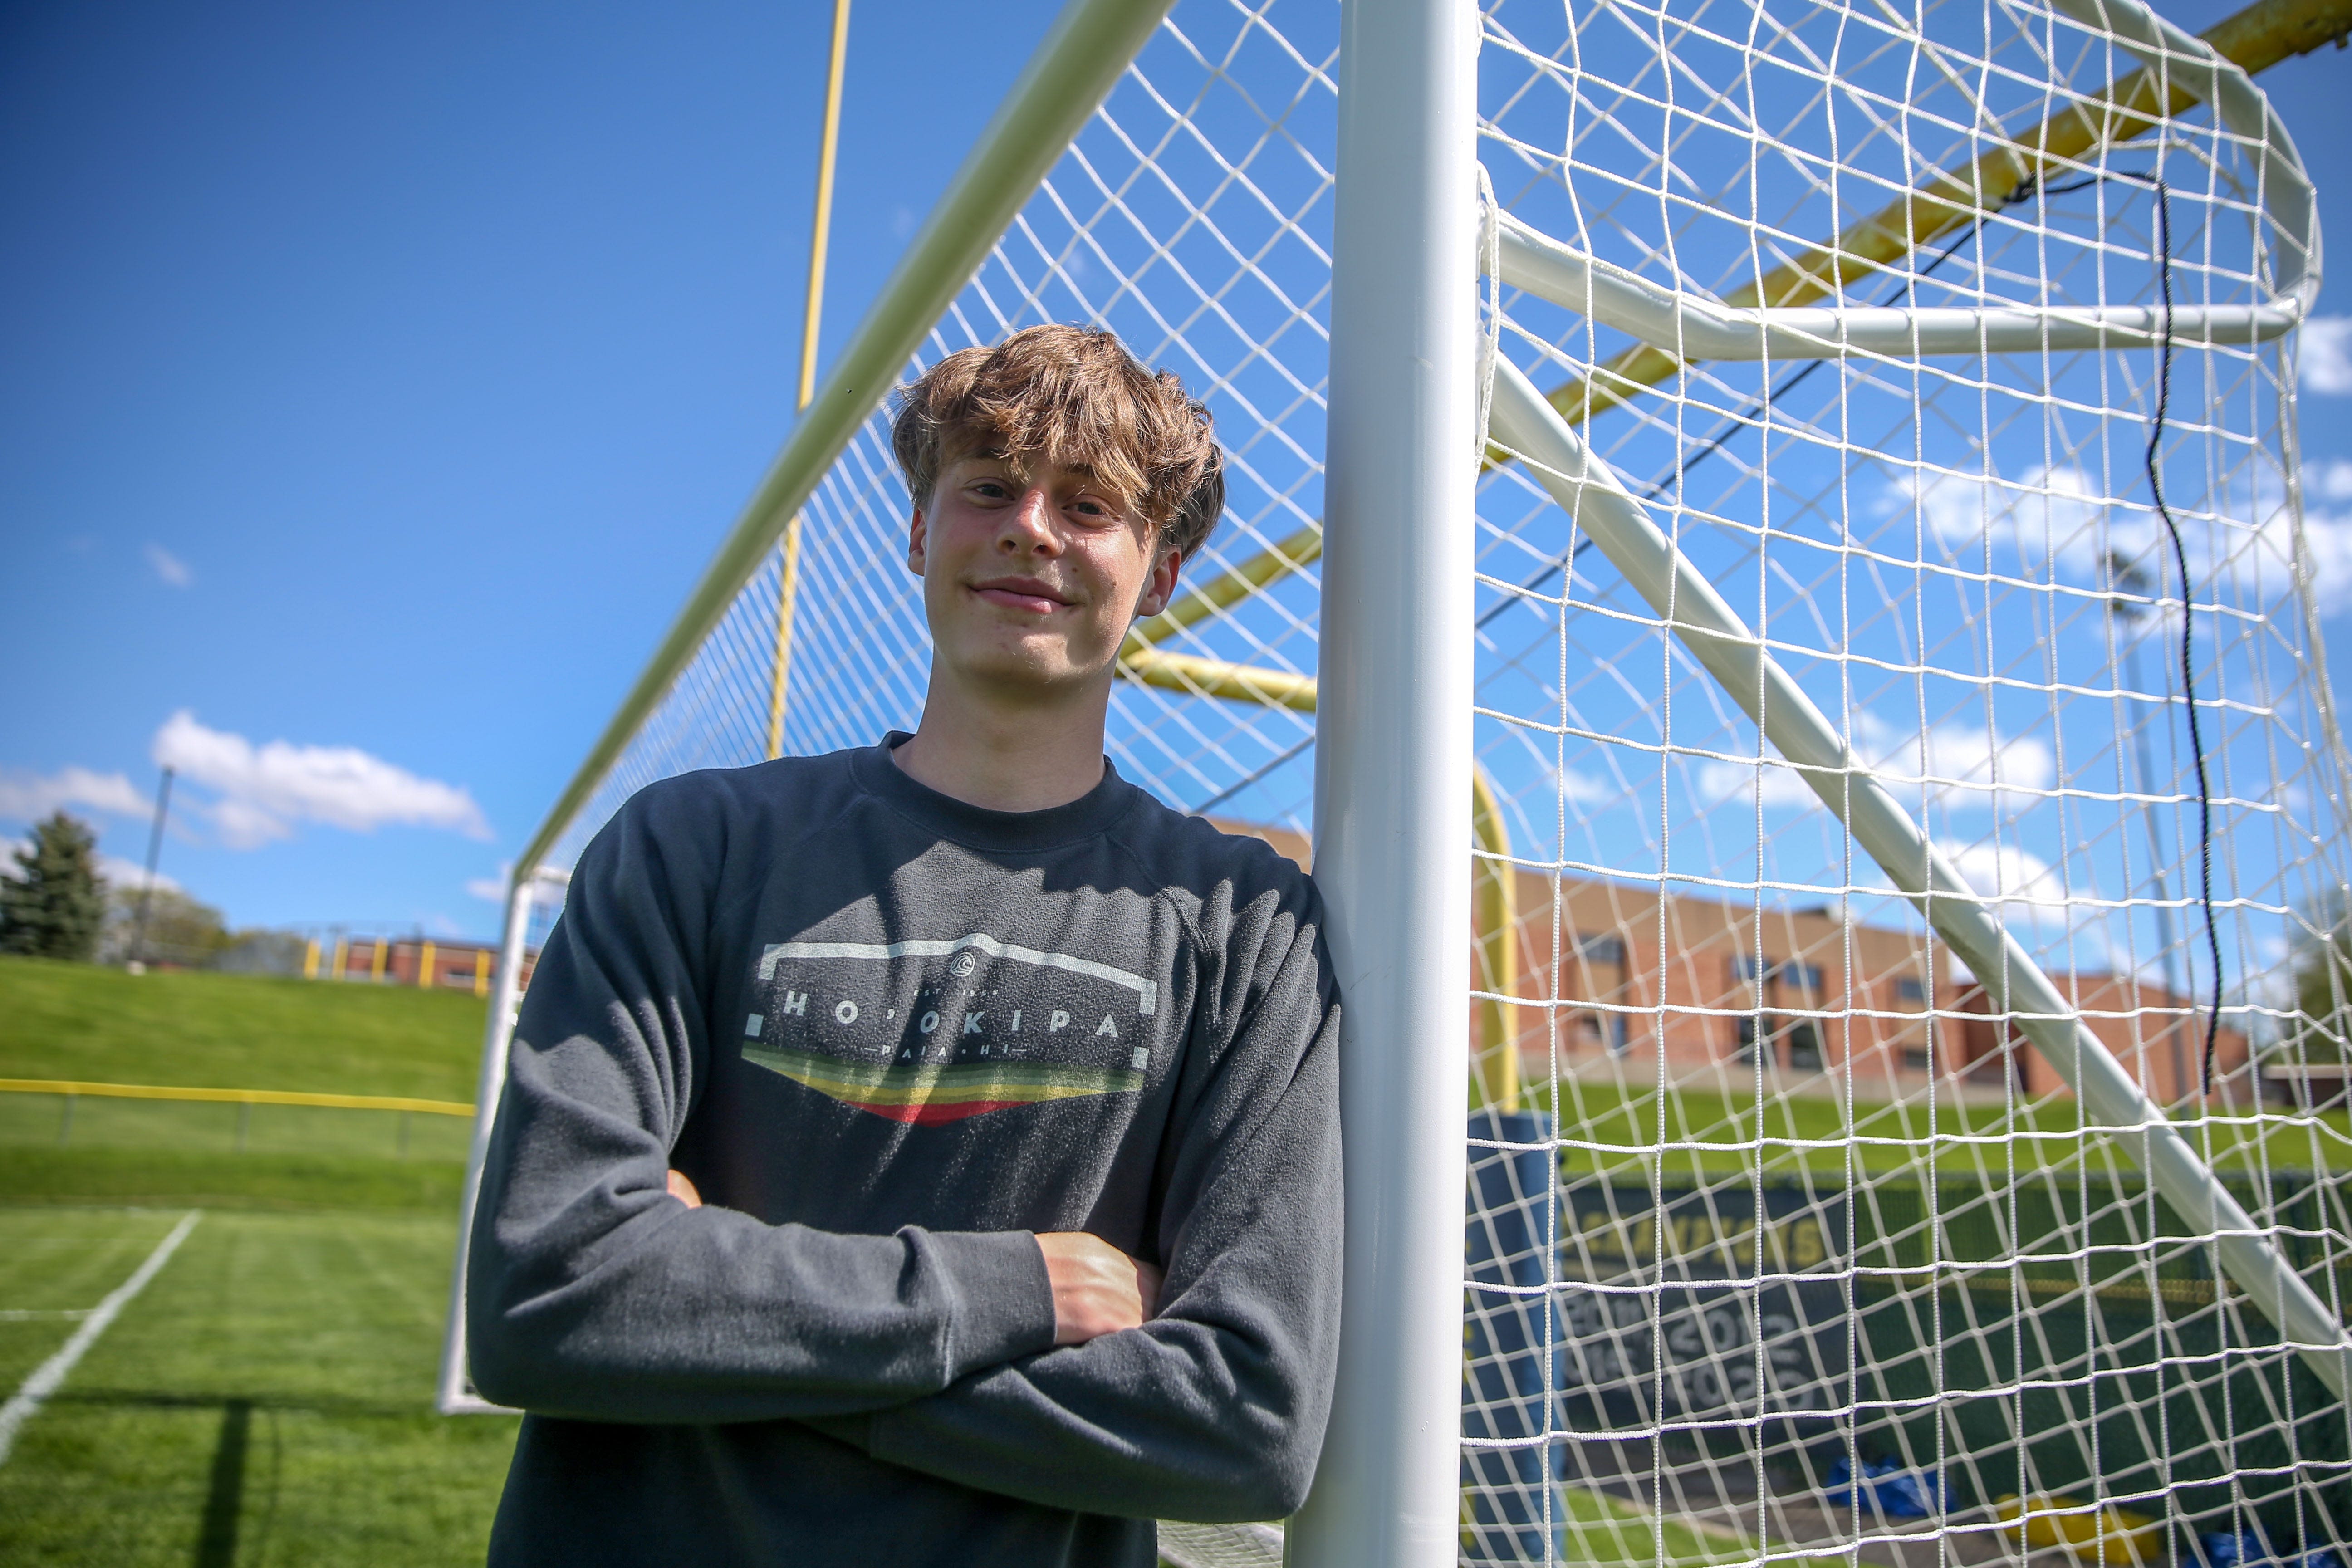
<instances>
[{"instance_id":1,"label":"young man in dark sweatshirt with arms crossed, leaning on goalpost","mask_svg":"<svg viewBox=\"0 0 2352 1568\"><path fill-rule=\"evenodd\" d=\"M901 393L922 726L581 856L468 1262L492 1563L1152 1563L1305 1495L1338 1340L1315 889L1103 757L1223 505L1207 411L1033 327Z\"/></svg>"}]
</instances>

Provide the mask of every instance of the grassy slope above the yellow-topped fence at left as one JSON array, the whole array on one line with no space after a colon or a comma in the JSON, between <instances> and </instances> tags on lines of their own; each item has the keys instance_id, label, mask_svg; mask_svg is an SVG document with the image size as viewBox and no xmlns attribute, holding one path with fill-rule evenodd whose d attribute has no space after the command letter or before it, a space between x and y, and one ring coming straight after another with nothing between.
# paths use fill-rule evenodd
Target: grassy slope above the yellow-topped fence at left
<instances>
[{"instance_id":1,"label":"grassy slope above the yellow-topped fence at left","mask_svg":"<svg viewBox=\"0 0 2352 1568\"><path fill-rule=\"evenodd\" d=\"M473 1100L466 992L0 957L0 1079Z\"/></svg>"}]
</instances>

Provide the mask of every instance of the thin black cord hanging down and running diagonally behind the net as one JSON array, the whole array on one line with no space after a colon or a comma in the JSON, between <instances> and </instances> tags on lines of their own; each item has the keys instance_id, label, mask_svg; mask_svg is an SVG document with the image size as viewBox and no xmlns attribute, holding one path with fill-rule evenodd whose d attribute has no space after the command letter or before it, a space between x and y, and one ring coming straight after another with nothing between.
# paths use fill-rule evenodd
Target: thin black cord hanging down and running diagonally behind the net
<instances>
[{"instance_id":1,"label":"thin black cord hanging down and running diagonally behind the net","mask_svg":"<svg viewBox=\"0 0 2352 1568\"><path fill-rule=\"evenodd\" d=\"M2016 207L2018 202L2030 202L2037 195L2039 197L2051 197L2051 195L2070 195L2074 190L2089 190L2091 186L2100 183L2103 179L2129 179L2129 181L2150 186L2157 193L2157 289L2159 289L2161 322L2164 324L2161 324L2161 329L2157 334L2157 409L2154 409L2154 418L2150 421L2150 428L2147 428L2145 465L2147 465L2147 494L2157 503L2157 517L2164 520L2164 534L2166 534L2166 538L2173 545L2173 567L2180 571L2180 701L2183 701L2183 705L2187 708L2187 715L2190 715L2190 757L2197 764L2199 903L2201 903L2204 917L2206 917L2206 957L2211 957L2211 961L2213 961L2213 999L2211 999L2211 1004L2206 1009L2206 1039L2204 1039L2201 1081L2204 1081L2204 1093L2213 1093L2213 1053L2216 1053L2216 1044L2220 1039L2220 1001L2223 1001L2220 929L2218 929L2218 924L2213 919L2213 788L2211 788L2211 780L2206 776L2204 726L2197 719L2197 665L2194 665L2194 658L2190 656L2190 623L2192 623L2192 604L2194 604L2192 578L2190 578L2190 552L2187 552L2187 545L2180 541L2180 524L2173 520L2173 508L2164 501L2164 470L2161 470L2161 461L2159 461L2161 454L2164 454L2164 421L2166 421L2166 414L2171 409L2171 395L2173 395L2173 200L2171 200L2171 188L2164 183L2164 176L2159 176L2159 174L2140 174L2138 169L2100 169L2098 174L2086 174L2084 179L2070 181L2065 186L2044 186L2042 181L2027 181L2027 183L2018 186L2009 195L2009 200L2002 202L2002 207L2004 209L2006 207ZM1966 244L1969 240L1978 237L1983 233L1985 221L1992 214L1978 214L1969 223L1969 228L1964 228L1950 244L1945 244L1940 252L1936 252L1926 261L1926 266L1919 266L1910 275L1905 275L1903 284L1893 294L1889 294L1884 301L1879 301L1879 303L1882 306L1891 306L1891 303L1900 301L1900 299L1907 299L1912 294L1912 289L1919 284L1922 277L1926 277L1929 273L1933 273L1936 268L1940 268L1945 261L1950 261L1959 252L1962 244ZM1665 470L1663 475L1658 475L1656 480L1651 480L1642 489L1642 501L1656 501L1658 496L1663 496L1672 484L1677 484L1679 480L1684 480L1693 468L1698 468L1710 456L1715 456L1717 451L1722 451L1724 444L1733 435L1738 435L1740 430L1750 428L1755 423L1757 414L1764 414L1766 409L1771 409L1771 404L1778 397L1788 397L1790 393L1795 393L1797 386L1806 376L1811 376L1816 369L1820 369L1823 364L1828 364L1828 360L1809 360L1806 364L1802 364L1795 371L1790 371L1783 381L1764 388L1764 395L1757 397L1757 400L1752 400L1738 414L1724 416L1724 421L1715 428L1715 433L1705 442L1698 444L1696 451L1689 451L1686 456L1682 456L1670 470ZM1519 583L1517 592L1512 592L1512 595L1508 595L1508 597L1489 604L1486 611L1479 614L1479 618L1477 618L1477 630L1484 630L1489 621L1494 621L1496 616L1501 616L1512 604L1526 604L1524 595L1531 595L1538 588L1543 588L1552 578L1555 571L1559 571L1559 574L1573 574L1576 571L1576 550L1578 550L1578 541L1571 541L1569 548L1566 548L1566 552L1559 559L1548 562L1543 567L1543 571L1538 571L1536 576L1531 576L1524 583ZM1529 609L1534 609L1534 607L1529 607Z\"/></svg>"}]
</instances>

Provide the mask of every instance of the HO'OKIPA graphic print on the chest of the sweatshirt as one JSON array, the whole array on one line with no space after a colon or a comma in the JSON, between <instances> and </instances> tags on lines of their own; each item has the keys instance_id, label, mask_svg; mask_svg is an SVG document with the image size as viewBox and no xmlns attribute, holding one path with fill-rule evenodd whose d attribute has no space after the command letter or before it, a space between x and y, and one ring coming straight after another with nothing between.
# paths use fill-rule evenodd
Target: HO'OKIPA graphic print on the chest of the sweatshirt
<instances>
[{"instance_id":1,"label":"HO'OKIPA graphic print on the chest of the sweatshirt","mask_svg":"<svg viewBox=\"0 0 2352 1568\"><path fill-rule=\"evenodd\" d=\"M743 1060L891 1121L1134 1093L1164 987L971 931L950 940L774 943Z\"/></svg>"}]
</instances>

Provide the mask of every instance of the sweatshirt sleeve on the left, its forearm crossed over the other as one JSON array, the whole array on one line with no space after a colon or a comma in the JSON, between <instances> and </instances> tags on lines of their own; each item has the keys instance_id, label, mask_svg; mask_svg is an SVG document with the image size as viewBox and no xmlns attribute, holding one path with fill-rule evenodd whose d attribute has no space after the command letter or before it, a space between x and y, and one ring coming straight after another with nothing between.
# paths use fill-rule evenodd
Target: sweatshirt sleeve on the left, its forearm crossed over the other
<instances>
[{"instance_id":1,"label":"sweatshirt sleeve on the left, its forearm crossed over the other","mask_svg":"<svg viewBox=\"0 0 2352 1568\"><path fill-rule=\"evenodd\" d=\"M515 1027L466 1255L487 1399L739 1422L870 1410L1054 1342L1028 1232L851 1237L668 1197L708 1063L724 813L691 778L581 856Z\"/></svg>"}]
</instances>

